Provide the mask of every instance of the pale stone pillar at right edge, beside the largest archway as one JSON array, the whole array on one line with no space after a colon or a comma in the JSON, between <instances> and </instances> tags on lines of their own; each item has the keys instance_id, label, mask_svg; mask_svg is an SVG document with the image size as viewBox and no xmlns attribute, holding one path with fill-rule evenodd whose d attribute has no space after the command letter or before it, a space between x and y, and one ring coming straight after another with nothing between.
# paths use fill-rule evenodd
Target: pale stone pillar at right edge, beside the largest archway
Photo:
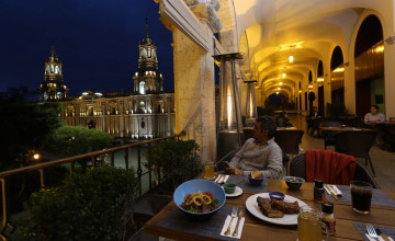
<instances>
[{"instance_id":1,"label":"pale stone pillar at right edge, beside the largest archway","mask_svg":"<svg viewBox=\"0 0 395 241\"><path fill-rule=\"evenodd\" d=\"M384 42L384 91L385 91L385 118L395 117L395 36Z\"/></svg>"}]
</instances>

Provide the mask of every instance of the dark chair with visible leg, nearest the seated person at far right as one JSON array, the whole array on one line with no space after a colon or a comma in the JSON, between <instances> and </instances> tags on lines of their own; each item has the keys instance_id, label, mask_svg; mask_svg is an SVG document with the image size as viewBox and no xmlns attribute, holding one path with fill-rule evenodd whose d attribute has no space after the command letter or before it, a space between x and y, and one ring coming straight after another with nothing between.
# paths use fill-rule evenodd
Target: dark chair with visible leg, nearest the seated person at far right
<instances>
[{"instance_id":1,"label":"dark chair with visible leg, nearest the seated person at far right","mask_svg":"<svg viewBox=\"0 0 395 241\"><path fill-rule=\"evenodd\" d=\"M365 167L368 165L369 161L373 175L375 175L369 151L374 144L376 135L377 133L374 130L341 131L335 136L335 150L337 152L350 154L356 158L364 158Z\"/></svg>"}]
</instances>

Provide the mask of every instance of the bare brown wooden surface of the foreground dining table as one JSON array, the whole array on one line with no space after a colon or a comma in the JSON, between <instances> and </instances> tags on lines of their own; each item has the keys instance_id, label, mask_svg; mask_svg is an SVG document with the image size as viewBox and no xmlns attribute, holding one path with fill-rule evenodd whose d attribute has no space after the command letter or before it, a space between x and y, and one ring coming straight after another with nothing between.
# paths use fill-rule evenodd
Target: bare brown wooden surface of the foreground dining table
<instances>
[{"instance_id":1,"label":"bare brown wooden surface of the foreground dining table","mask_svg":"<svg viewBox=\"0 0 395 241\"><path fill-rule=\"evenodd\" d=\"M247 179L247 176L245 176ZM264 193L271 191L279 191L285 195L298 198L308 206L315 206L320 210L320 204L314 202L314 184L303 183L300 190L290 190L283 180L267 180L262 185ZM395 190L379 190L377 192L385 195L390 200L395 199ZM258 192L260 193L260 192ZM238 197L227 197L224 207L237 207L238 209L246 209L246 200L257 194L257 192L246 188L242 194ZM366 240L364 236L356 228L357 222L359 223L373 223L374 226L390 227L395 230L395 206L376 206L372 205L371 210L368 215L359 214L352 210L350 202L331 200L335 205L336 216L336 233L330 236L329 240ZM394 202L395 203L395 202ZM224 208L223 207L223 208ZM147 233L165 237L173 240L223 240L218 237L207 237L204 232L191 232L189 228L169 228L162 226L163 220L169 220L171 214L178 213L174 202L170 202L165 206L158 214L156 214L145 225L145 231ZM251 213L246 210L246 219L241 232L240 240L275 240L275 241L289 241L296 240L297 238L297 225L283 226L268 222L259 219ZM217 215L217 214L215 214ZM230 213L229 213L230 215ZM185 216L185 215L184 215ZM182 217L183 218L183 217ZM185 218L189 218L185 216ZM214 217L212 217L214 218ZM185 219L187 220L187 219ZM204 220L201 220L200 222ZM222 220L224 221L224 220ZM187 227L187 226L185 226ZM211 229L211 226L206 227ZM224 237L222 237L224 238ZM392 237L395 238L395 237ZM237 240L237 239L227 239Z\"/></svg>"}]
</instances>

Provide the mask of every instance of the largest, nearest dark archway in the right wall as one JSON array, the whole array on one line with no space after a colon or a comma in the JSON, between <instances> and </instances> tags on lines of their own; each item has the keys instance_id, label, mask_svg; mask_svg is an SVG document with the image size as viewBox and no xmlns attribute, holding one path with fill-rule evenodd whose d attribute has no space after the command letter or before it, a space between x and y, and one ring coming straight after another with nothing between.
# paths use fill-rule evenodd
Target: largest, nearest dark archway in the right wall
<instances>
[{"instance_id":1,"label":"largest, nearest dark archway in the right wall","mask_svg":"<svg viewBox=\"0 0 395 241\"><path fill-rule=\"evenodd\" d=\"M363 20L356 39L354 58L357 115L368 113L372 104L385 112L383 28L377 16Z\"/></svg>"}]
</instances>

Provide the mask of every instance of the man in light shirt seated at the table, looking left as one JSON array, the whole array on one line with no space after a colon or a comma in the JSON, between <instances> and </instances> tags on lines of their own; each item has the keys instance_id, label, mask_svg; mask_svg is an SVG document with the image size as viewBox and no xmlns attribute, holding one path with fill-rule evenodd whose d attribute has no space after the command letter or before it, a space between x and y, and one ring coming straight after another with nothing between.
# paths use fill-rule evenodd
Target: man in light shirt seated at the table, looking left
<instances>
[{"instance_id":1,"label":"man in light shirt seated at the table, looking left","mask_svg":"<svg viewBox=\"0 0 395 241\"><path fill-rule=\"evenodd\" d=\"M274 141L275 119L270 116L257 118L253 137L248 139L235 154L225 171L233 175L248 175L259 170L269 179L279 179L283 168L282 151Z\"/></svg>"}]
</instances>

